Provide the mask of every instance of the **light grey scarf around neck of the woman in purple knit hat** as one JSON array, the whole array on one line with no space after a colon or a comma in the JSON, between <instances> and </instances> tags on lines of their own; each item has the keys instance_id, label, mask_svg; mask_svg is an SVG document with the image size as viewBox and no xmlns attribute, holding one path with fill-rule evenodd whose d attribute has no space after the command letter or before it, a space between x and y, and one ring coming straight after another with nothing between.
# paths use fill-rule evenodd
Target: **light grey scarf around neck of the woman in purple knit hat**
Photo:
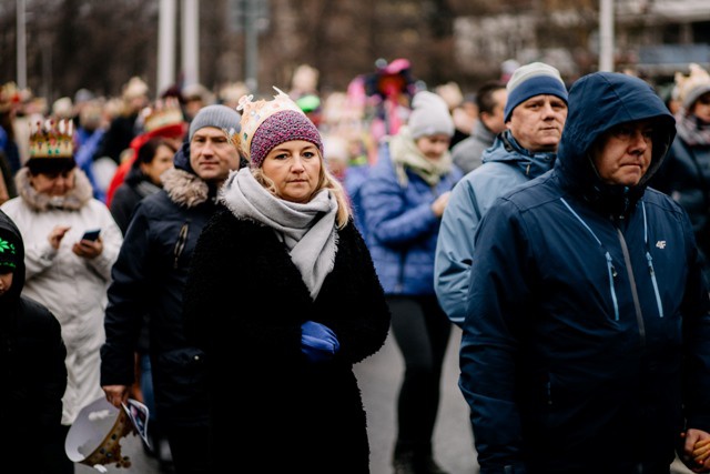
<instances>
[{"instance_id":1,"label":"light grey scarf around neck of the woman in purple knit hat","mask_svg":"<svg viewBox=\"0 0 710 474\"><path fill-rule=\"evenodd\" d=\"M221 199L235 216L260 222L283 238L291 260L315 300L333 270L337 252L337 201L331 192L322 190L305 204L285 201L261 185L248 168L243 168L227 180Z\"/></svg>"}]
</instances>

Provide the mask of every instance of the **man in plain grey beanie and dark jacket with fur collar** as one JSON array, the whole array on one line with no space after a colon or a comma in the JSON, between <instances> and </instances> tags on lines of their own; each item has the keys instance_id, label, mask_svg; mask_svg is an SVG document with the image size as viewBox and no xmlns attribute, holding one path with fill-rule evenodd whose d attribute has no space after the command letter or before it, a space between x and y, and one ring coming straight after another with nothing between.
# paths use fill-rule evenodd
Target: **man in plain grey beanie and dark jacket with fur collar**
<instances>
[{"instance_id":1,"label":"man in plain grey beanie and dark jacket with fur collar","mask_svg":"<svg viewBox=\"0 0 710 474\"><path fill-rule=\"evenodd\" d=\"M207 473L204 357L185 340L182 295L192 251L217 209L219 189L240 167L239 133L235 110L209 105L197 112L175 168L161 177L163 189L133 211L108 291L101 386L121 409L135 382L139 334L149 322L155 412L179 473Z\"/></svg>"}]
</instances>

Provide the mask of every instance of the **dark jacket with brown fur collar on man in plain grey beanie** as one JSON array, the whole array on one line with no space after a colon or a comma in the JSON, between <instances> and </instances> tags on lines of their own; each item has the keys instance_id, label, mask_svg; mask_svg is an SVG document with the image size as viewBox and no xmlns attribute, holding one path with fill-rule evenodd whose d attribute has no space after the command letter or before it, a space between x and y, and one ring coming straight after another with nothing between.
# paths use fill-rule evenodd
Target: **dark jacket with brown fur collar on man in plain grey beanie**
<instances>
[{"instance_id":1,"label":"dark jacket with brown fur collar on man in plain grey beanie","mask_svg":"<svg viewBox=\"0 0 710 474\"><path fill-rule=\"evenodd\" d=\"M216 205L196 175L170 170L165 177L164 189L138 204L113 265L104 321L106 341L101 347L101 385L133 384L133 354L146 317L161 424L168 428L204 426L207 409L202 352L186 341L181 315L190 260Z\"/></svg>"}]
</instances>

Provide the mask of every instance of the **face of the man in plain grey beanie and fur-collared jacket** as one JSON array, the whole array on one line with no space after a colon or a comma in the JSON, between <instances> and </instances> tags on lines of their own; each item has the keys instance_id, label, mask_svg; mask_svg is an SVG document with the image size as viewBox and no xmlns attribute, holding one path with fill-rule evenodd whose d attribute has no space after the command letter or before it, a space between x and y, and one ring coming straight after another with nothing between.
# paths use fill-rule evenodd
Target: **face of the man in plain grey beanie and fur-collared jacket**
<instances>
[{"instance_id":1,"label":"face of the man in plain grey beanie and fur-collared jacket","mask_svg":"<svg viewBox=\"0 0 710 474\"><path fill-rule=\"evenodd\" d=\"M220 183L239 168L240 154L222 130L204 127L190 141L190 165L204 181Z\"/></svg>"}]
</instances>

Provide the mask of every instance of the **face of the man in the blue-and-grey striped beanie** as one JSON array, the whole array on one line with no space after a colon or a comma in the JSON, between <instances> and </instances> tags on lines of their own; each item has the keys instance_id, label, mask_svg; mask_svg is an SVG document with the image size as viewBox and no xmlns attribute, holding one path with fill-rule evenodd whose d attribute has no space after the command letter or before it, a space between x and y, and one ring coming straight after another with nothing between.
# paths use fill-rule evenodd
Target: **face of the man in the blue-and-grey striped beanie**
<instances>
[{"instance_id":1,"label":"face of the man in the blue-and-grey striped beanie","mask_svg":"<svg viewBox=\"0 0 710 474\"><path fill-rule=\"evenodd\" d=\"M535 95L513 109L506 124L526 150L557 151L567 120L567 104L556 95Z\"/></svg>"}]
</instances>

